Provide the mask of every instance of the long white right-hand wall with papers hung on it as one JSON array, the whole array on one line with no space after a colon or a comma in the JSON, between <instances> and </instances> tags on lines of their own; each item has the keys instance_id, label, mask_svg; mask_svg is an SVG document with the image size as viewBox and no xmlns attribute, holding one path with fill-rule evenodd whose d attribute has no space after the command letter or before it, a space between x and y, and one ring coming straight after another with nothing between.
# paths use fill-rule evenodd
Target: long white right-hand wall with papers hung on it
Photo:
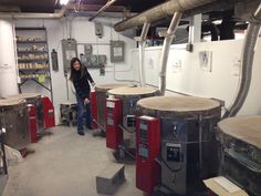
<instances>
[{"instance_id":1,"label":"long white right-hand wall with papers hung on it","mask_svg":"<svg viewBox=\"0 0 261 196\"><path fill-rule=\"evenodd\" d=\"M215 97L226 101L229 107L237 95L239 87L238 60L241 56L242 40L219 42L201 42L194 45L194 52L187 52L184 44L171 45L167 65L167 89L185 94ZM145 52L146 82L158 85L160 47L147 48ZM200 69L199 51L212 51L212 71ZM240 115L261 114L261 39L257 45L252 83L246 104ZM136 60L138 51L135 50L133 59ZM174 68L176 62L181 62L181 70ZM137 63L138 61L136 61ZM137 72L136 72L137 73Z\"/></svg>"}]
</instances>

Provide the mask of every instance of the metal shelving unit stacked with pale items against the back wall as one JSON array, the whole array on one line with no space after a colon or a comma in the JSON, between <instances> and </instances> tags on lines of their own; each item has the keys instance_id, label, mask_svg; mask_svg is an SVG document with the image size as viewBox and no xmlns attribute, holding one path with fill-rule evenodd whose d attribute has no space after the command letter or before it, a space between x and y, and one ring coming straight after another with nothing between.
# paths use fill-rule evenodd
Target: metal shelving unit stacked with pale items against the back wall
<instances>
[{"instance_id":1,"label":"metal shelving unit stacked with pale items against the back wall","mask_svg":"<svg viewBox=\"0 0 261 196\"><path fill-rule=\"evenodd\" d=\"M31 81L49 91L53 100L46 29L15 28L15 33L20 92Z\"/></svg>"}]
</instances>

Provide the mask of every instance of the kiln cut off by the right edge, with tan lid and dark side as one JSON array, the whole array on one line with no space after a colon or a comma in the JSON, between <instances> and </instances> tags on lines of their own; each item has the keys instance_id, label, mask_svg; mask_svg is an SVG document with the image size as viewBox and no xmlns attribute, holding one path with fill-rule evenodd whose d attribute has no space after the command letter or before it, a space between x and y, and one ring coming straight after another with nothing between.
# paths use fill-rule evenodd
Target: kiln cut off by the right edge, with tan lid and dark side
<instances>
[{"instance_id":1,"label":"kiln cut off by the right edge, with tan lid and dark side","mask_svg":"<svg viewBox=\"0 0 261 196\"><path fill-rule=\"evenodd\" d=\"M222 175L250 195L261 195L261 115L237 116L218 123Z\"/></svg>"}]
</instances>

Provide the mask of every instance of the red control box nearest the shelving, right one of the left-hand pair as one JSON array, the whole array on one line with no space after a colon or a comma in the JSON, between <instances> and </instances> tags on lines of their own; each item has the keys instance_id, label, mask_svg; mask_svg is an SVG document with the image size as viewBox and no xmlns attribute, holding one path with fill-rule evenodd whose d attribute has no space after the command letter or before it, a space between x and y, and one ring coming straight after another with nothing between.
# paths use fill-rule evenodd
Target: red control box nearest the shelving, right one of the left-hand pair
<instances>
[{"instance_id":1,"label":"red control box nearest the shelving, right one of the left-hand pair","mask_svg":"<svg viewBox=\"0 0 261 196\"><path fill-rule=\"evenodd\" d=\"M43 103L44 128L50 128L55 126L53 103L46 96L42 97L42 103Z\"/></svg>"}]
</instances>

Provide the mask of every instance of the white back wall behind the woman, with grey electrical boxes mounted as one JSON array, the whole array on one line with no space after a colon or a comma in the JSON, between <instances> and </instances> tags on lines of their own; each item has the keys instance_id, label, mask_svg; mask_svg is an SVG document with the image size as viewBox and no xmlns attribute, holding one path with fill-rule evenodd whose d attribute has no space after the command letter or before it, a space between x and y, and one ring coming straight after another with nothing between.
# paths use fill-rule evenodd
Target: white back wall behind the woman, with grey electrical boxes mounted
<instances>
[{"instance_id":1,"label":"white back wall behind the woman, with grey electrical boxes mounted","mask_svg":"<svg viewBox=\"0 0 261 196\"><path fill-rule=\"evenodd\" d=\"M94 23L88 22L87 18L74 18L70 20L18 20L15 21L15 27L45 27L48 31L48 44L49 44L49 55L51 56L52 49L58 51L59 55L59 71L52 71L52 89L53 89L53 103L56 113L56 121L60 117L60 104L67 101L66 93L66 79L63 72L63 59L62 59L62 47L61 40L67 39L71 34L77 43L92 43L94 54L106 54L107 64L105 66L105 75L100 75L98 70L91 69L90 73L96 83L111 83L121 82L121 80L132 80L133 75L133 64L130 60L130 53L135 48L136 43L133 39L123 37L116 33L112 25L116 23L116 19L105 19L97 18L97 20L104 25L104 35L98 39L94 33ZM70 30L70 27L72 29ZM109 40L123 40L125 42L125 61L122 63L111 63L109 60ZM77 45L79 54L83 52L83 45ZM51 61L51 60L50 60ZM51 62L50 62L51 63ZM115 74L113 70L116 70ZM69 85L70 86L70 85ZM40 92L41 94L48 95L49 93L39 87L35 83L29 83L23 86L23 91ZM41 92L42 91L42 92ZM75 101L74 94L69 90L69 100Z\"/></svg>"}]
</instances>

